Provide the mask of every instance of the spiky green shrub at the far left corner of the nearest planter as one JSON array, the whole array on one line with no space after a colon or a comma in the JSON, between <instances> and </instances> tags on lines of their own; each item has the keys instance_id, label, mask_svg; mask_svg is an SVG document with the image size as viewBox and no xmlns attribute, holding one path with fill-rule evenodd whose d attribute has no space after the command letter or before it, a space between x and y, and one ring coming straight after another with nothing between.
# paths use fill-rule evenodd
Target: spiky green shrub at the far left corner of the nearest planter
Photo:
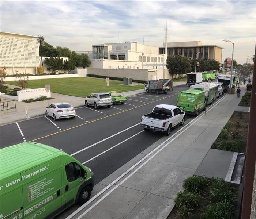
<instances>
[{"instance_id":1,"label":"spiky green shrub at the far left corner of the nearest planter","mask_svg":"<svg viewBox=\"0 0 256 219\"><path fill-rule=\"evenodd\" d=\"M184 180L183 187L186 192L202 193L203 187L208 183L209 180L205 177L192 176Z\"/></svg>"}]
</instances>

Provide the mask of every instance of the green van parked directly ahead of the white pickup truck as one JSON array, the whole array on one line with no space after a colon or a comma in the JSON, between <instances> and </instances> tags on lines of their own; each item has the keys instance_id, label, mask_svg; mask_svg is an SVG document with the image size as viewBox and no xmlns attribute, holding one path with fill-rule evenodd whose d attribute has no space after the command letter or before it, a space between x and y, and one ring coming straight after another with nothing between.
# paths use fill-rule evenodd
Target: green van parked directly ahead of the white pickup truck
<instances>
[{"instance_id":1,"label":"green van parked directly ahead of the white pickup truck","mask_svg":"<svg viewBox=\"0 0 256 219\"><path fill-rule=\"evenodd\" d=\"M177 107L187 114L197 116L205 108L204 91L192 89L181 91L178 95Z\"/></svg>"}]
</instances>

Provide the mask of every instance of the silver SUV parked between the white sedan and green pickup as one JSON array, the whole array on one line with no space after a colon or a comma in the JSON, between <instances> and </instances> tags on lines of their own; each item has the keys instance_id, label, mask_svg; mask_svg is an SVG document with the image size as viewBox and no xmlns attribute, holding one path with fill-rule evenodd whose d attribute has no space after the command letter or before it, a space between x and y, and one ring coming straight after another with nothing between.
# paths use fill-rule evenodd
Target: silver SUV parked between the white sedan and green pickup
<instances>
[{"instance_id":1,"label":"silver SUV parked between the white sedan and green pickup","mask_svg":"<svg viewBox=\"0 0 256 219\"><path fill-rule=\"evenodd\" d=\"M113 101L109 93L92 93L85 98L84 104L86 105L86 107L92 105L95 109L101 106L107 106L108 108L110 108L113 104Z\"/></svg>"}]
</instances>

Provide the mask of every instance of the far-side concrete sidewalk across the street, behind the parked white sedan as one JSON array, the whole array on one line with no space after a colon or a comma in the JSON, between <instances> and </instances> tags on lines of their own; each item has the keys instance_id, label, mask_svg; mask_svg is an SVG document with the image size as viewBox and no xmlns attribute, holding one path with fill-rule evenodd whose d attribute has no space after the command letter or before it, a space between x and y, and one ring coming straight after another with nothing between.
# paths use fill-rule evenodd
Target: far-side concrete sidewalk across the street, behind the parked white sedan
<instances>
[{"instance_id":1,"label":"far-side concrete sidewalk across the street, behind the parked white sedan","mask_svg":"<svg viewBox=\"0 0 256 219\"><path fill-rule=\"evenodd\" d=\"M173 85L178 86L178 85L181 85L182 83L185 84L184 81L181 81L181 82L175 82L173 83ZM9 84L5 84L5 85L9 86L10 88L17 87L16 85L9 85ZM26 88L26 89L29 89L29 88ZM144 89L122 92L120 93L120 95L131 97L131 96L139 95L141 93L145 93ZM76 107L76 108L84 106L83 97L63 95L60 93L51 93L51 96L54 99L49 100L49 104L68 102L69 104L71 104L73 107ZM33 102L33 103L23 103L23 102L16 101L16 110L12 109L12 110L0 112L0 125L27 119L27 116L25 115L26 114L25 106L29 106L29 111L28 111L29 118L33 118L35 116L42 116L45 113L47 100Z\"/></svg>"}]
</instances>

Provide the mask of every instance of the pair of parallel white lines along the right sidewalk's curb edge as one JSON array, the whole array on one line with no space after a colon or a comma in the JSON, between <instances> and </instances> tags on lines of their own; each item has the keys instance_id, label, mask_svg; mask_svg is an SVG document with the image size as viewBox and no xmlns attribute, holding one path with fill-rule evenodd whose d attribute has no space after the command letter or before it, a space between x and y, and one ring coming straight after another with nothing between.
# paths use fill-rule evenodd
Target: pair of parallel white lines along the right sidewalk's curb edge
<instances>
[{"instance_id":1,"label":"pair of parallel white lines along the right sidewalk's curb edge","mask_svg":"<svg viewBox=\"0 0 256 219\"><path fill-rule=\"evenodd\" d=\"M226 96L227 97L227 96ZM219 102L221 102L226 97L222 97L221 100L219 100L217 103L213 104L210 108L208 108L208 113L212 108L214 108ZM184 131L186 131L190 126L192 126L197 120L199 120L202 116L204 116L204 113L202 113L200 116L197 116L195 119L192 119L188 124L186 124L184 127L182 127L180 130L178 130L176 133L174 133L171 137L167 138L163 143L161 143L159 146L157 146L155 149L153 149L150 153L148 153L146 156L144 156L142 159L140 159L136 164L131 166L128 170L126 170L123 174L121 174L116 180L114 180L112 183L107 185L104 189L102 189L100 192L98 192L95 196L93 196L89 201L87 201L85 204L83 204L80 208L78 208L76 211L74 211L71 215L69 215L66 219L71 219L73 216L78 214L81 210L83 210L87 205L89 205L91 202L93 202L95 199L97 199L100 195L102 195L106 190L108 190L112 185L114 185L117 181L119 181L121 178L123 178L126 174L131 172L132 169L134 169L136 166L138 166L141 162L143 162L148 156L150 156L152 153L154 153L156 150L158 150L163 144L165 144L167 141L169 141L171 138L173 138L174 135L176 135L178 132L180 132L176 137L174 137L170 142L168 142L165 146L163 146L161 149L159 149L155 154L153 154L148 160L146 160L142 165L140 165L137 169L135 169L128 177L126 177L121 183L117 184L114 188L112 188L108 193L106 193L104 196L101 197L97 202L95 202L93 205L91 205L90 208L88 208L86 211L84 211L81 215L79 215L76 219L82 218L85 214L87 214L91 209L93 209L97 204L99 204L105 197L107 197L110 193L112 193L118 186L123 184L126 180L128 180L129 177L131 177L134 173L136 173L142 166L144 166L148 161L150 161L155 155L157 155L161 150L163 150L169 143L171 143L174 139L176 139L178 136L180 136ZM195 121L194 121L195 120ZM185 129L184 129L185 128ZM184 129L184 130L183 130ZM183 131L181 131L183 130Z\"/></svg>"}]
</instances>

